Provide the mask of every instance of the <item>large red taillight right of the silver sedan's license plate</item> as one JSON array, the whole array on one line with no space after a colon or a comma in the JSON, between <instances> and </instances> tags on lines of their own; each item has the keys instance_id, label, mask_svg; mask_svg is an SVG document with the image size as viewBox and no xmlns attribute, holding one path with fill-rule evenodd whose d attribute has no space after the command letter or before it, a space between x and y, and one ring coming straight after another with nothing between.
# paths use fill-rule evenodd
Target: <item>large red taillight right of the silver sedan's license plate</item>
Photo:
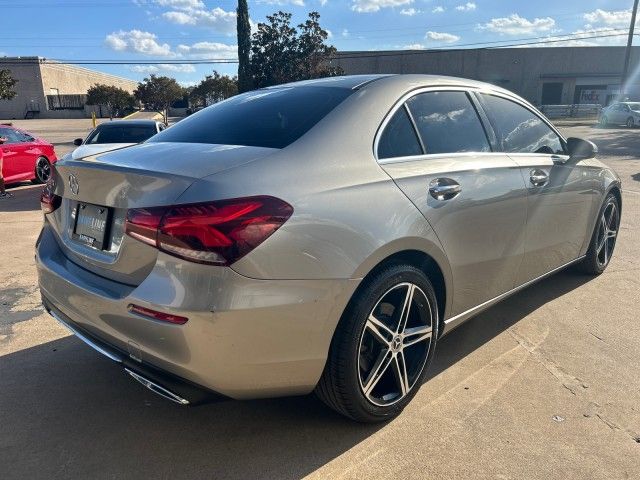
<instances>
[{"instance_id":1,"label":"large red taillight right of the silver sedan's license plate","mask_svg":"<svg viewBox=\"0 0 640 480\"><path fill-rule=\"evenodd\" d=\"M230 265L264 242L292 213L291 205L267 196L134 208L127 212L125 232L176 257Z\"/></svg>"}]
</instances>

